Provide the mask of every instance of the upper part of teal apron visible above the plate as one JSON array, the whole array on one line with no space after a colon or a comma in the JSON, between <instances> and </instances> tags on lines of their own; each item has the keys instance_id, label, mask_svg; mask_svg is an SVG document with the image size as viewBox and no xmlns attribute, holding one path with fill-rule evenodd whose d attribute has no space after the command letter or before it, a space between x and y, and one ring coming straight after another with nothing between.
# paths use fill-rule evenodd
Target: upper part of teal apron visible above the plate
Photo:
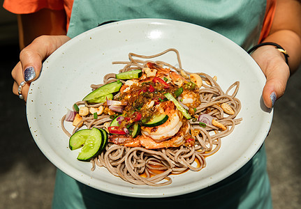
<instances>
[{"instance_id":1,"label":"upper part of teal apron visible above the plate","mask_svg":"<svg viewBox=\"0 0 301 209\"><path fill-rule=\"evenodd\" d=\"M163 18L204 26L249 49L256 45L266 0L75 0L71 38L112 20Z\"/></svg>"}]
</instances>

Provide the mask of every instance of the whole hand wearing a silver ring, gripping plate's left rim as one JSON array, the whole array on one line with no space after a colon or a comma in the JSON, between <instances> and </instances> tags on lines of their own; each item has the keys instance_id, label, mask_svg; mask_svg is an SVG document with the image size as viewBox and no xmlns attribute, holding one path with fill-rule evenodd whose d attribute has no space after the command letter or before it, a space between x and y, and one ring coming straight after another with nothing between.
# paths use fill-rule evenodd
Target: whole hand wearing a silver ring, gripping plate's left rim
<instances>
[{"instance_id":1,"label":"whole hand wearing a silver ring, gripping plate's left rim","mask_svg":"<svg viewBox=\"0 0 301 209\"><path fill-rule=\"evenodd\" d=\"M20 62L15 65L11 72L15 80L13 93L18 95L18 88L21 82L25 81L26 84L22 87L22 95L26 102L30 83L40 75L42 62L68 40L70 40L68 36L39 36L30 45L22 49Z\"/></svg>"}]
</instances>

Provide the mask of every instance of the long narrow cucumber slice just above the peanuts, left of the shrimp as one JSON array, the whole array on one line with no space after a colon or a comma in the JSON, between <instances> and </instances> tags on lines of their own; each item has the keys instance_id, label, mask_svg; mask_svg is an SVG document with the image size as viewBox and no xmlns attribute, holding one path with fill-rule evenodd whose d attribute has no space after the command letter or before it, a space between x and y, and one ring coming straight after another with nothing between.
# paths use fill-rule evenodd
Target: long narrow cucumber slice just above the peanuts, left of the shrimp
<instances>
[{"instance_id":1,"label":"long narrow cucumber slice just above the peanuts, left of the shrimp","mask_svg":"<svg viewBox=\"0 0 301 209\"><path fill-rule=\"evenodd\" d=\"M89 93L88 95L86 95L85 98L83 98L82 100L83 101L95 100L95 98L100 98L103 95L115 93L115 92L119 91L121 87L122 87L122 82L117 80L116 82L112 82L110 84L105 84L105 85L97 88L96 90L94 90L91 93Z\"/></svg>"}]
</instances>

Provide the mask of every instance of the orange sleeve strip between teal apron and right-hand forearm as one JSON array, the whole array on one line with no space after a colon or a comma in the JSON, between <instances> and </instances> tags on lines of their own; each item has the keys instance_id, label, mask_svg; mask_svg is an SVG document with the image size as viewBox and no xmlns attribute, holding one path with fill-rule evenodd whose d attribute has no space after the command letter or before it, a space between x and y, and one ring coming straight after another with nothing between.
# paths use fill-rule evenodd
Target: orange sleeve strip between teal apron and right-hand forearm
<instances>
[{"instance_id":1,"label":"orange sleeve strip between teal apron and right-hand forearm","mask_svg":"<svg viewBox=\"0 0 301 209\"><path fill-rule=\"evenodd\" d=\"M262 42L270 33L276 10L276 1L277 0L267 0L267 6L265 8L265 18L263 20L263 28L261 29L258 43Z\"/></svg>"}]
</instances>

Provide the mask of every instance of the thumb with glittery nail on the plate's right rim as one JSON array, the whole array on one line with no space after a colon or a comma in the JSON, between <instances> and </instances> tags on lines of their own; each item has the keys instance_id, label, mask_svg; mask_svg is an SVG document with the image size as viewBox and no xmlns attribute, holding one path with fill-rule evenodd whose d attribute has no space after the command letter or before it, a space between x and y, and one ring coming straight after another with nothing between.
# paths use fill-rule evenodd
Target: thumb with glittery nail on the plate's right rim
<instances>
[{"instance_id":1,"label":"thumb with glittery nail on the plate's right rim","mask_svg":"<svg viewBox=\"0 0 301 209\"><path fill-rule=\"evenodd\" d=\"M274 102L284 95L286 83L290 76L288 65L283 61L275 63L275 65L268 66L265 70L267 78L265 87L263 88L263 102L268 108L274 106Z\"/></svg>"}]
</instances>

